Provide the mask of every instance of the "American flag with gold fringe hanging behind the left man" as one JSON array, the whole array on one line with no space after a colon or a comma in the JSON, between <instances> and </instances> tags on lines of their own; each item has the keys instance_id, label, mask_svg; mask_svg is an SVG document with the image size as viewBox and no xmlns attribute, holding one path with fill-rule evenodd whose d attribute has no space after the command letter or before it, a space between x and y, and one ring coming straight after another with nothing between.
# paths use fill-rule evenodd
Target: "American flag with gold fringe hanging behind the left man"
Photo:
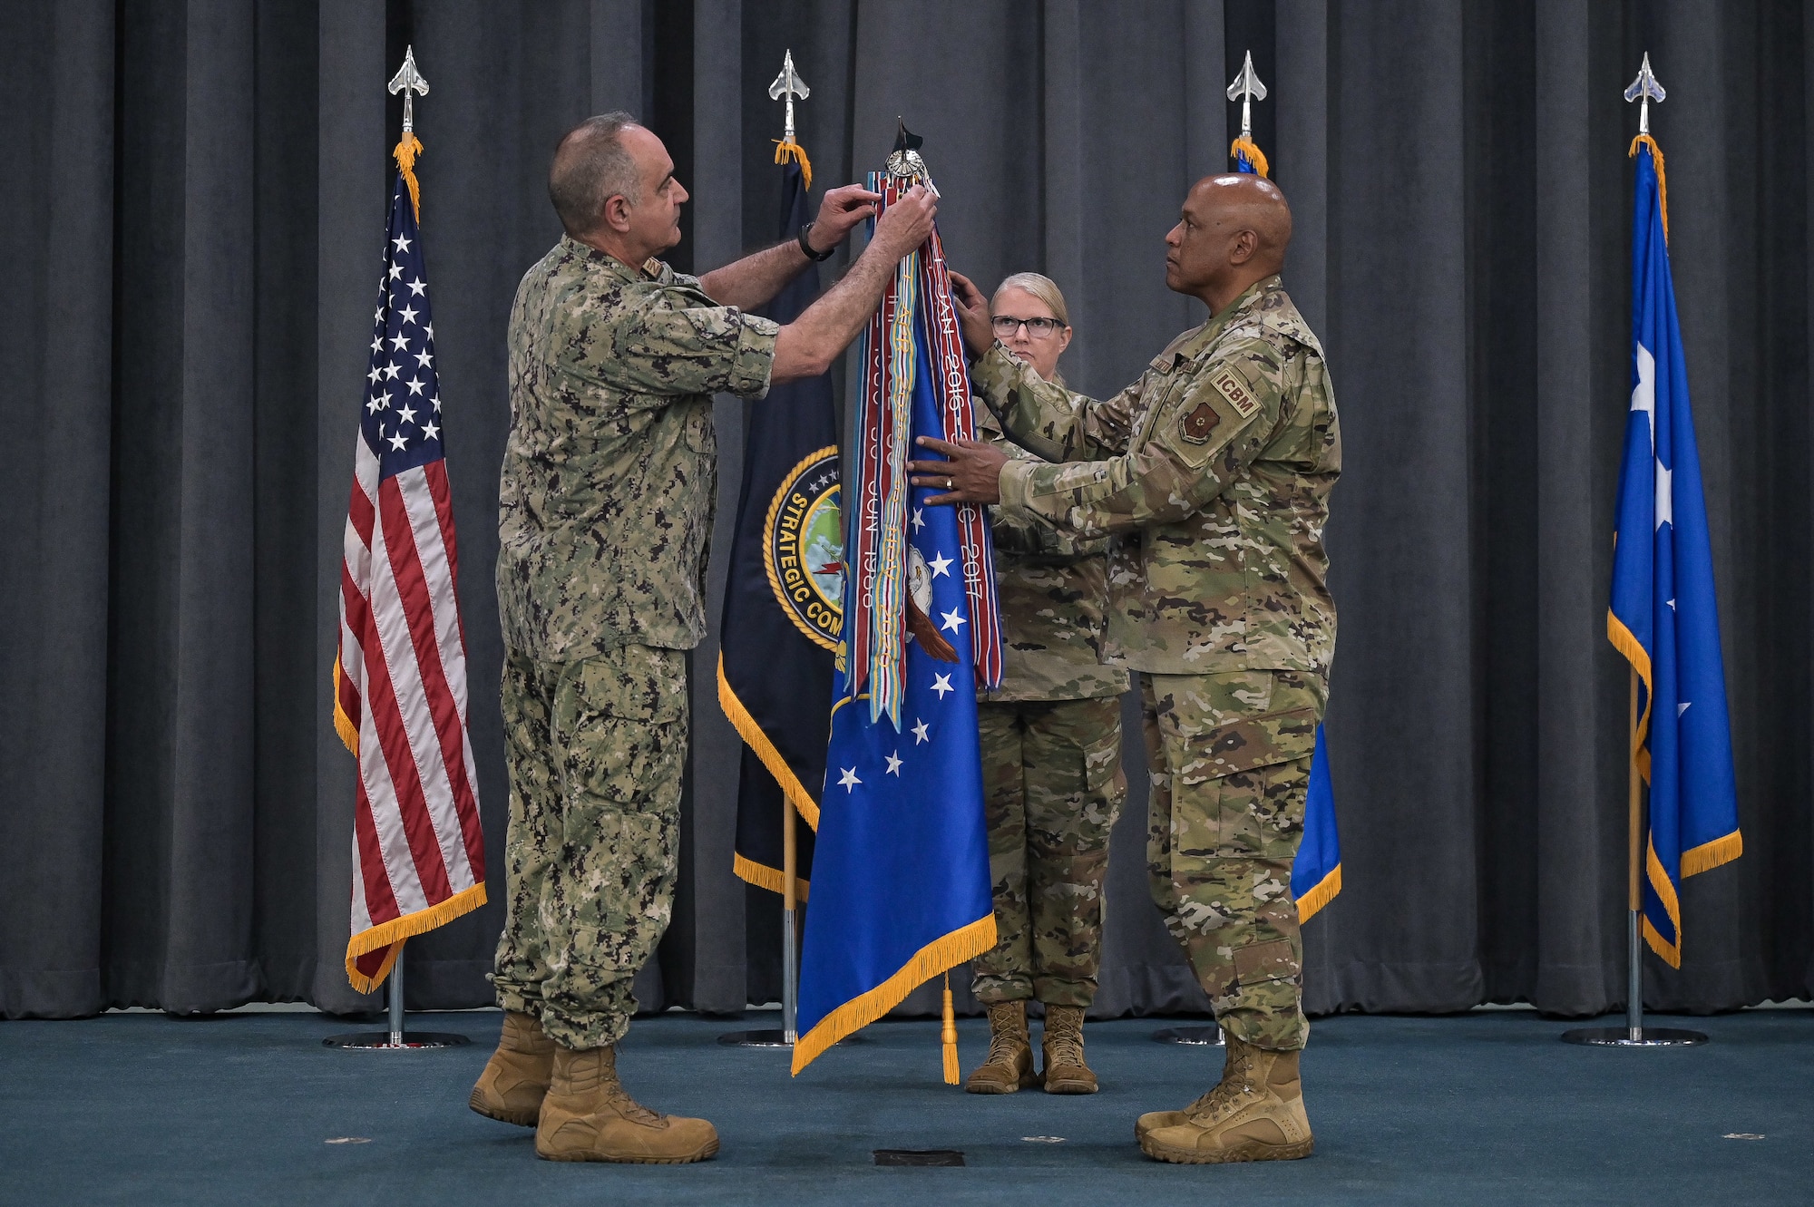
<instances>
[{"instance_id":1,"label":"American flag with gold fringe hanging behind the left man","mask_svg":"<svg viewBox=\"0 0 1814 1207\"><path fill-rule=\"evenodd\" d=\"M399 172L390 198L334 663L334 725L359 759L346 977L361 993L390 973L405 939L484 904L435 324L412 176Z\"/></svg>"}]
</instances>

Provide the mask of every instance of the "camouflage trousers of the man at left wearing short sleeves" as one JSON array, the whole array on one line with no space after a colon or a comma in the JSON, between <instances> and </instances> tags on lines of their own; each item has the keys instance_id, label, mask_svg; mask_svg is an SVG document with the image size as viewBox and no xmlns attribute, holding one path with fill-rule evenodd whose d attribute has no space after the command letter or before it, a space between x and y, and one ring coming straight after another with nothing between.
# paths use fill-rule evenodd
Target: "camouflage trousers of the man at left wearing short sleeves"
<instances>
[{"instance_id":1,"label":"camouflage trousers of the man at left wearing short sleeves","mask_svg":"<svg viewBox=\"0 0 1814 1207\"><path fill-rule=\"evenodd\" d=\"M673 915L686 654L626 645L580 661L504 658L510 915L497 1004L566 1048L615 1044L631 982Z\"/></svg>"}]
</instances>

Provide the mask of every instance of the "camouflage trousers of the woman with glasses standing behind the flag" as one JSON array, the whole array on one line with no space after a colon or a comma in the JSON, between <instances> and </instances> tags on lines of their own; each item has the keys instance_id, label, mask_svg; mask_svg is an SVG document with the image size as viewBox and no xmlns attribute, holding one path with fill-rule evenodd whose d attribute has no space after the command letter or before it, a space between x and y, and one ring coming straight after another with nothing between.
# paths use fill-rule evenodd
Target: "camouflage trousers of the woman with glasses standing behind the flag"
<instances>
[{"instance_id":1,"label":"camouflage trousers of the woman with glasses standing behind the flag","mask_svg":"<svg viewBox=\"0 0 1814 1207\"><path fill-rule=\"evenodd\" d=\"M996 946L970 962L985 1004L1088 1006L1103 948L1108 830L1126 799L1121 701L980 701Z\"/></svg>"}]
</instances>

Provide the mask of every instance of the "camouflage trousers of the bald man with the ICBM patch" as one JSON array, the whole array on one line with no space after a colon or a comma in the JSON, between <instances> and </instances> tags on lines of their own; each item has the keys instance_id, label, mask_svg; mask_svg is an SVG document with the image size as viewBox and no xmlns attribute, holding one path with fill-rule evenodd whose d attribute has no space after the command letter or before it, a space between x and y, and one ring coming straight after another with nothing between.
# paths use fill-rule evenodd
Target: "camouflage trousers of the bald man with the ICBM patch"
<instances>
[{"instance_id":1,"label":"camouflage trousers of the bald man with the ICBM patch","mask_svg":"<svg viewBox=\"0 0 1814 1207\"><path fill-rule=\"evenodd\" d=\"M1141 676L1152 899L1215 1020L1255 1048L1310 1035L1292 859L1326 700L1292 671Z\"/></svg>"}]
</instances>

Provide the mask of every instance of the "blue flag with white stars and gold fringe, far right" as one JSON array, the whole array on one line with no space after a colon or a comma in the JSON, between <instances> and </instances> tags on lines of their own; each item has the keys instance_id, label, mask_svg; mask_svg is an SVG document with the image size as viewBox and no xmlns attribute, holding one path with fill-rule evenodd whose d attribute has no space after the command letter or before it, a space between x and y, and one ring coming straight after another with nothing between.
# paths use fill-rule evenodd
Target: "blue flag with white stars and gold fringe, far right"
<instances>
[{"instance_id":1,"label":"blue flag with white stars and gold fringe, far right","mask_svg":"<svg viewBox=\"0 0 1814 1207\"><path fill-rule=\"evenodd\" d=\"M1662 156L1640 136L1631 230L1631 411L1607 636L1642 683L1633 752L1651 783L1643 937L1682 966L1682 879L1743 852L1720 611L1689 375L1669 277Z\"/></svg>"}]
</instances>

